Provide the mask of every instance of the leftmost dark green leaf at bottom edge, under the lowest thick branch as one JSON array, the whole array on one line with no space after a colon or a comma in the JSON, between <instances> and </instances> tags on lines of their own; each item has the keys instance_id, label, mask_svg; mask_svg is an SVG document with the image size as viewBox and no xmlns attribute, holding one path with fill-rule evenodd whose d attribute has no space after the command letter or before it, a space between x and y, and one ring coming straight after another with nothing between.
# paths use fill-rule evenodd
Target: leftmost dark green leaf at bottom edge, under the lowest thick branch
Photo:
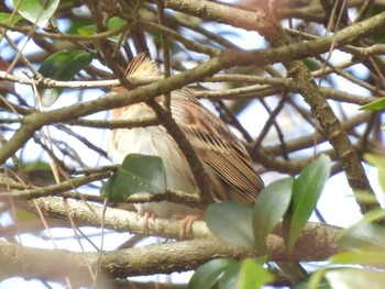
<instances>
[{"instance_id":1,"label":"leftmost dark green leaf at bottom edge, under the lowest thick branch","mask_svg":"<svg viewBox=\"0 0 385 289\"><path fill-rule=\"evenodd\" d=\"M188 289L210 289L223 271L235 263L235 259L219 258L204 264L194 273Z\"/></svg>"}]
</instances>

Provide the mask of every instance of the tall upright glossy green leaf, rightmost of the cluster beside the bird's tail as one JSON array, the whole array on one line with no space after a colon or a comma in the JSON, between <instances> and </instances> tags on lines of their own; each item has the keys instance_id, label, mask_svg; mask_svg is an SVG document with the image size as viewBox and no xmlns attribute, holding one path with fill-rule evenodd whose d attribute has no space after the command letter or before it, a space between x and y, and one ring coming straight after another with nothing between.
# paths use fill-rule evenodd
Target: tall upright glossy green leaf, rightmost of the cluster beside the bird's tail
<instances>
[{"instance_id":1,"label":"tall upright glossy green leaf, rightmost of the cluster beside the bird's tail","mask_svg":"<svg viewBox=\"0 0 385 289\"><path fill-rule=\"evenodd\" d=\"M330 175L331 160L321 155L299 174L293 182L293 201L284 218L287 246L293 249L300 232L315 210Z\"/></svg>"}]
</instances>

